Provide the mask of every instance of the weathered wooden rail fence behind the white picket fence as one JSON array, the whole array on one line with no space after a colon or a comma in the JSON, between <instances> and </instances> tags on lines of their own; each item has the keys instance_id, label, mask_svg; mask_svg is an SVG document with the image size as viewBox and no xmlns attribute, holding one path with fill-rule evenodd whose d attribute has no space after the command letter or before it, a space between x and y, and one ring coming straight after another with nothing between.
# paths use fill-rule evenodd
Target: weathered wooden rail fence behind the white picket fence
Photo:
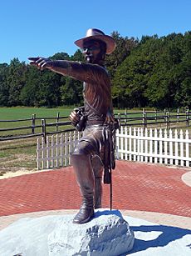
<instances>
[{"instance_id":1,"label":"weathered wooden rail fence behind the white picket fence","mask_svg":"<svg viewBox=\"0 0 191 256\"><path fill-rule=\"evenodd\" d=\"M178 126L183 123L184 126L189 126L191 120L191 112L187 109L185 112L169 113L168 111L146 111L133 113L118 113L115 118L119 120L120 126L143 126L144 128L157 125L165 126L167 129L173 126ZM51 120L51 123L50 123ZM53 120L53 121L52 121ZM15 127L1 128L1 123L16 123ZM22 124L25 125L22 125ZM27 124L26 124L27 123ZM71 122L68 117L61 117L57 113L53 118L37 118L36 114L32 114L32 118L17 119L17 120L0 120L0 141L18 139L18 138L32 138L55 133L63 133L64 131L71 131Z\"/></svg>"}]
</instances>

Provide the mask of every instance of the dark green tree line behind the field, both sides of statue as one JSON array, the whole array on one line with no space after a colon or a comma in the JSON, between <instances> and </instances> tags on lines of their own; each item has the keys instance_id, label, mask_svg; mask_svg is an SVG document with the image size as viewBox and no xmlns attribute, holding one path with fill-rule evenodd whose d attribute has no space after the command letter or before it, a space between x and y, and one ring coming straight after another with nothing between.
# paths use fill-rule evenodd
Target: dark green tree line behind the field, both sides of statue
<instances>
[{"instance_id":1,"label":"dark green tree line behind the field, both sides of statue","mask_svg":"<svg viewBox=\"0 0 191 256\"><path fill-rule=\"evenodd\" d=\"M113 32L117 47L105 59L117 108L191 107L191 32L159 38L128 38ZM56 53L51 59L84 62L81 50L72 56ZM57 107L83 104L82 83L40 72L13 58L0 63L0 106Z\"/></svg>"}]
</instances>

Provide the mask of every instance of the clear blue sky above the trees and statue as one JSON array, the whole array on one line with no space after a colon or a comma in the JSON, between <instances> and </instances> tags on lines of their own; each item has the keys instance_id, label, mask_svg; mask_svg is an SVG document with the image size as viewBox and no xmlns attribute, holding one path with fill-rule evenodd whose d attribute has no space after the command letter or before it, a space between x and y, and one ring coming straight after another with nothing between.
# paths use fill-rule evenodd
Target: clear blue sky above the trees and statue
<instances>
[{"instance_id":1,"label":"clear blue sky above the trees and statue","mask_svg":"<svg viewBox=\"0 0 191 256\"><path fill-rule=\"evenodd\" d=\"M88 28L121 36L191 30L191 0L6 0L0 3L0 63L76 52Z\"/></svg>"}]
</instances>

